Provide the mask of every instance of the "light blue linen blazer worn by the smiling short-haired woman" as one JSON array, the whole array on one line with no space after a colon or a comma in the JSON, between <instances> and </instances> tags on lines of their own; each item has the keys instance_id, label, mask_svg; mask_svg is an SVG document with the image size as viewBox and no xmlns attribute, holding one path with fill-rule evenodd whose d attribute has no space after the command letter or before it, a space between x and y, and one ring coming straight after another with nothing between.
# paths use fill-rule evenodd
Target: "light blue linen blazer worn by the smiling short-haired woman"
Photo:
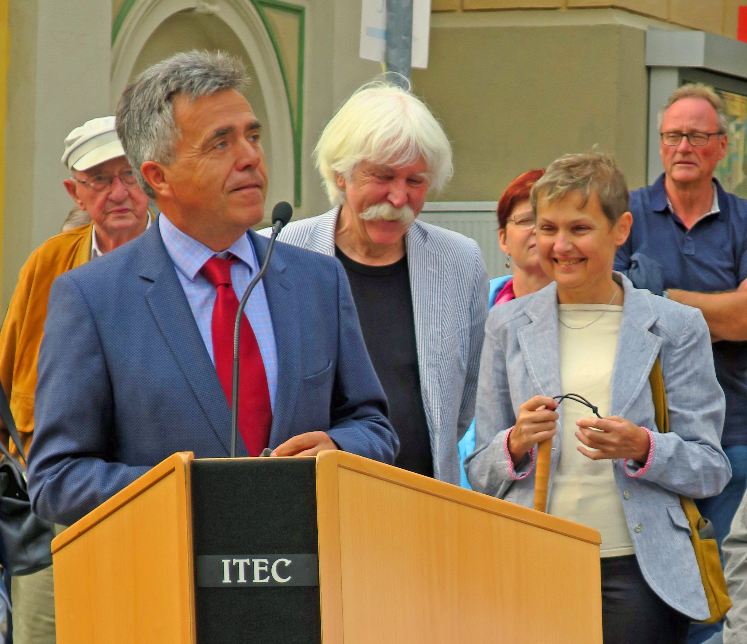
<instances>
[{"instance_id":1,"label":"light blue linen blazer worn by the smiling short-haired woman","mask_svg":"<svg viewBox=\"0 0 747 644\"><path fill-rule=\"evenodd\" d=\"M724 393L713 369L708 327L698 309L634 288L620 273L613 276L622 283L624 303L610 381L610 415L648 427L654 436L645 471L636 461L613 461L627 527L651 589L681 613L705 619L708 604L678 495L713 496L731 478L720 444ZM477 387L475 451L465 460L473 489L533 507L534 471L514 480L504 441L521 403L536 395L561 393L558 356L555 282L493 307ZM657 431L648 384L657 356L669 406L666 434ZM562 448L562 405L558 411L548 498ZM527 473L532 463L527 454L515 475Z\"/></svg>"}]
</instances>

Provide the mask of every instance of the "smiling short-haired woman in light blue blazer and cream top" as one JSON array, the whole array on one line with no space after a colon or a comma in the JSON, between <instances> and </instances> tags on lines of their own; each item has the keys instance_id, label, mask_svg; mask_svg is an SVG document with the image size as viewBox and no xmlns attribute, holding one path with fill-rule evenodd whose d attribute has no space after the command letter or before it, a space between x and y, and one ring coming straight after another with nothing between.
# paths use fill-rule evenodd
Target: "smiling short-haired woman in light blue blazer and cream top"
<instances>
[{"instance_id":1,"label":"smiling short-haired woman in light blue blazer and cream top","mask_svg":"<svg viewBox=\"0 0 747 644\"><path fill-rule=\"evenodd\" d=\"M708 328L613 273L632 223L613 158L558 159L530 200L554 282L486 323L469 482L532 507L536 445L551 439L547 512L601 534L604 644L684 643L710 611L679 495L718 494L731 477ZM669 433L654 421L657 359Z\"/></svg>"}]
</instances>

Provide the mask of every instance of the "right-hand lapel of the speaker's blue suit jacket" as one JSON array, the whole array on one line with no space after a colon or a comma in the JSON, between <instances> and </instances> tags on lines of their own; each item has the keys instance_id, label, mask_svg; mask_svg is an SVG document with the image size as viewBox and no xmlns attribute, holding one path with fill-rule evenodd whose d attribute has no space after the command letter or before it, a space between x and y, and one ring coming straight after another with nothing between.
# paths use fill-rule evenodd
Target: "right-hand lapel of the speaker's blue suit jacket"
<instances>
[{"instance_id":1,"label":"right-hand lapel of the speaker's blue suit jacket","mask_svg":"<svg viewBox=\"0 0 747 644\"><path fill-rule=\"evenodd\" d=\"M257 259L261 264L267 253L270 240L249 231ZM334 244L332 244L334 247ZM273 321L275 346L278 356L278 387L275 395L273 425L270 430L270 446L276 447L291 436L291 422L296 409L298 389L301 383L301 307L296 289L288 279L285 262L273 252L267 273L262 278L270 318Z\"/></svg>"}]
</instances>

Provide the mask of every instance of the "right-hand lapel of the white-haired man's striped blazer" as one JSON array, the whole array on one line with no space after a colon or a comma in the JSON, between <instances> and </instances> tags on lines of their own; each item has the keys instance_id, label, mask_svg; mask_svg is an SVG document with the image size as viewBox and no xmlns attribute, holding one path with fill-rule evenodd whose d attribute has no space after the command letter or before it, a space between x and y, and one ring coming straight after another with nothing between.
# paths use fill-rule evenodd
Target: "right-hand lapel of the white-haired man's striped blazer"
<instances>
[{"instance_id":1,"label":"right-hand lapel of the white-haired man's striped blazer","mask_svg":"<svg viewBox=\"0 0 747 644\"><path fill-rule=\"evenodd\" d=\"M405 237L407 265L415 318L415 344L418 349L423 406L433 443L441 409L438 387L441 366L441 308L444 300L444 258L436 253L426 229L416 220Z\"/></svg>"}]
</instances>

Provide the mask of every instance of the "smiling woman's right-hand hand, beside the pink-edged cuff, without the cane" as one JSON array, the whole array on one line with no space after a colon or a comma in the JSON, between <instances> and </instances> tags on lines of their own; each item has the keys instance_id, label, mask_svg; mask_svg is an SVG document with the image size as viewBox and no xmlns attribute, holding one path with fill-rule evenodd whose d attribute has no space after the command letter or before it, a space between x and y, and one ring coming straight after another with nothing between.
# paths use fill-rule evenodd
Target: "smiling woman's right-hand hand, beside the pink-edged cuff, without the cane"
<instances>
[{"instance_id":1,"label":"smiling woman's right-hand hand, beside the pink-edged cuff, without the cane","mask_svg":"<svg viewBox=\"0 0 747 644\"><path fill-rule=\"evenodd\" d=\"M585 448L579 445L576 449L592 460L634 459L645 463L648 459L651 440L643 427L619 416L582 418L576 424L579 427L576 437L586 445Z\"/></svg>"}]
</instances>

